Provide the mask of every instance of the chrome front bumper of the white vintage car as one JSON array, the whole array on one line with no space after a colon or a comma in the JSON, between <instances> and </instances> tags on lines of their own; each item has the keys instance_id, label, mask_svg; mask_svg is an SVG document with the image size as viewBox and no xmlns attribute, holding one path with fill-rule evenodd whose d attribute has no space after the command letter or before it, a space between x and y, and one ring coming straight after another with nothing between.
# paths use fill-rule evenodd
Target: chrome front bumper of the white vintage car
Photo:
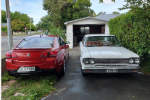
<instances>
[{"instance_id":1,"label":"chrome front bumper of the white vintage car","mask_svg":"<svg viewBox=\"0 0 150 100\"><path fill-rule=\"evenodd\" d=\"M96 63L84 64L80 58L83 73L135 73L140 70L139 64L126 64L126 63ZM108 72L108 70L117 70Z\"/></svg>"}]
</instances>

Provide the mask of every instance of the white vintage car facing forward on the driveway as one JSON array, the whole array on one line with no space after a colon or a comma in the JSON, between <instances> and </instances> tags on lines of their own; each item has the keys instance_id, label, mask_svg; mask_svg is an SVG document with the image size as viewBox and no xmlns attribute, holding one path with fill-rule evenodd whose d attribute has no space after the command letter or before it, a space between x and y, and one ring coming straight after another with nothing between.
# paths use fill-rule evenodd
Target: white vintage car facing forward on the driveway
<instances>
[{"instance_id":1,"label":"white vintage car facing forward on the driveway","mask_svg":"<svg viewBox=\"0 0 150 100\"><path fill-rule=\"evenodd\" d=\"M121 46L114 35L89 34L80 42L82 75L87 73L134 73L140 57Z\"/></svg>"}]
</instances>

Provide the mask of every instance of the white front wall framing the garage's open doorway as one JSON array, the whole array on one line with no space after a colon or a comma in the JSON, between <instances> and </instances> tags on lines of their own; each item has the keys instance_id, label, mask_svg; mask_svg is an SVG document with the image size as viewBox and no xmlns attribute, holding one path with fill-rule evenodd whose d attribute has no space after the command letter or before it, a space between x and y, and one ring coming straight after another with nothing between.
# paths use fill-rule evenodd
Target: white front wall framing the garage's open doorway
<instances>
[{"instance_id":1,"label":"white front wall framing the garage's open doorway","mask_svg":"<svg viewBox=\"0 0 150 100\"><path fill-rule=\"evenodd\" d=\"M100 21L92 18L82 19L79 21L74 21L66 25L66 39L70 42L69 48L73 48L73 25L86 25L86 24L105 24L105 34L109 34L108 23L105 21Z\"/></svg>"}]
</instances>

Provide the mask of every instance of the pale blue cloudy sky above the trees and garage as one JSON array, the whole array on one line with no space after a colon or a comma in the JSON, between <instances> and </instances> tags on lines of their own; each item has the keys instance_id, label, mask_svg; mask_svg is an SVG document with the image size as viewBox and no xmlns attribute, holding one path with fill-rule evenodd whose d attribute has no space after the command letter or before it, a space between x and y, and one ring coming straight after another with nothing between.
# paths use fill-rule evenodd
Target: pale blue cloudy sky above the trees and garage
<instances>
[{"instance_id":1,"label":"pale blue cloudy sky above the trees and garage","mask_svg":"<svg viewBox=\"0 0 150 100\"><path fill-rule=\"evenodd\" d=\"M99 0L91 0L91 3L91 9L93 9L96 14L99 12L111 14L113 11L118 11L120 13L128 11L118 10L118 8L125 4L124 0L115 0L115 3L111 0L104 0L104 3L99 3ZM47 14L47 11L43 10L43 0L9 0L9 6L11 12L19 11L33 18L34 25ZM1 10L6 10L5 0L1 0Z\"/></svg>"}]
</instances>

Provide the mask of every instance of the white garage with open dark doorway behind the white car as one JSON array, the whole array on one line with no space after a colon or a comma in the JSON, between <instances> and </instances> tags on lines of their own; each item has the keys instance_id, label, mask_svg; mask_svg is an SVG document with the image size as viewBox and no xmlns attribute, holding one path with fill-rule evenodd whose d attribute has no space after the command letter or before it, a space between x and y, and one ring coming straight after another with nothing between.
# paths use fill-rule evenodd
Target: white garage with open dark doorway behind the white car
<instances>
[{"instance_id":1,"label":"white garage with open dark doorway behind the white car","mask_svg":"<svg viewBox=\"0 0 150 100\"><path fill-rule=\"evenodd\" d=\"M97 17L85 17L65 22L66 40L70 42L69 48L79 45L85 34L109 34L108 22L120 14L104 14Z\"/></svg>"}]
</instances>

